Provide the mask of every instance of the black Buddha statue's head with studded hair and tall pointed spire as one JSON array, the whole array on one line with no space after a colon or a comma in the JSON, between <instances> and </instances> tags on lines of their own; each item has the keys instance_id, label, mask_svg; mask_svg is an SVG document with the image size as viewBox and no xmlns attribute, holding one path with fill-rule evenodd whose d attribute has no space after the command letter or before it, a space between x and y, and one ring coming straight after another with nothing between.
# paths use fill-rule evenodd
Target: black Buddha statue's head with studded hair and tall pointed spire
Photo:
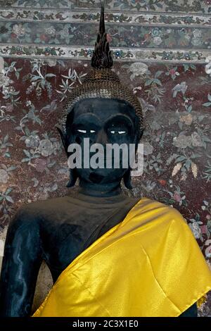
<instances>
[{"instance_id":1,"label":"black Buddha statue's head with studded hair and tall pointed spire","mask_svg":"<svg viewBox=\"0 0 211 331\"><path fill-rule=\"evenodd\" d=\"M60 133L67 156L68 146L77 143L82 154L84 138L89 138L89 146L101 144L106 160L106 144L134 144L137 147L143 134L142 110L139 99L127 86L120 82L111 70L113 58L105 32L104 6L101 4L99 32L91 57L91 70L79 87L72 89L63 108ZM91 155L91 154L90 154ZM123 179L127 189L131 189L131 168L122 167L123 154L120 154L120 167L74 168L70 169L67 187L79 185L89 192L118 192ZM113 163L112 163L113 164ZM114 193L115 194L115 193Z\"/></svg>"}]
</instances>

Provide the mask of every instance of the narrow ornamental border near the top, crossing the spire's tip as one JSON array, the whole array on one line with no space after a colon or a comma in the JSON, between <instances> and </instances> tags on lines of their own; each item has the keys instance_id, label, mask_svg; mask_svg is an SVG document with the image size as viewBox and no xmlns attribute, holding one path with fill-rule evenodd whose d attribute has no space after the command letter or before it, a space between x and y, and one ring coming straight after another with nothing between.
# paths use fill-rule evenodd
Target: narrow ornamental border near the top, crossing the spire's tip
<instances>
[{"instance_id":1,"label":"narrow ornamental border near the top, crossing the spire's tip","mask_svg":"<svg viewBox=\"0 0 211 331\"><path fill-rule=\"evenodd\" d=\"M100 13L93 11L70 11L48 8L8 8L0 10L0 20L21 20L65 23L98 23ZM106 23L130 23L141 25L175 25L175 26L210 26L210 15L170 14L170 13L105 13Z\"/></svg>"}]
</instances>

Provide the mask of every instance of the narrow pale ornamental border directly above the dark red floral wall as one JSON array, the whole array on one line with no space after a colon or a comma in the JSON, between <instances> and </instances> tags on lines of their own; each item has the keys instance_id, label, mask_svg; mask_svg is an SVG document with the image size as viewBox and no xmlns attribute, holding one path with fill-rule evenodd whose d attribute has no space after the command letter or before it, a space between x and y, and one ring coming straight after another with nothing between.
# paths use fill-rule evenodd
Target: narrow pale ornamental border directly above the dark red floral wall
<instances>
[{"instance_id":1,"label":"narrow pale ornamental border directly above the dark red floral wall","mask_svg":"<svg viewBox=\"0 0 211 331\"><path fill-rule=\"evenodd\" d=\"M0 56L23 57L23 58L70 58L75 60L87 60L91 58L93 49L87 46L35 46L0 44ZM151 62L174 62L174 63L206 63L205 59L210 56L210 51L184 51L168 49L111 49L113 58L118 61L151 61Z\"/></svg>"}]
</instances>

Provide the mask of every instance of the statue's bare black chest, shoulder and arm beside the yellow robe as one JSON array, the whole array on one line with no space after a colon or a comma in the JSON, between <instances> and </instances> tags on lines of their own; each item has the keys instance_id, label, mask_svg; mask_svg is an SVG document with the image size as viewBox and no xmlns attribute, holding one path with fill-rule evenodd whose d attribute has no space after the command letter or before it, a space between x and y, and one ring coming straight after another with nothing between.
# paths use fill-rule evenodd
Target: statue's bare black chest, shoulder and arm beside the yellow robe
<instances>
[{"instance_id":1,"label":"statue's bare black chest, shoulder and arm beside the yellow robe","mask_svg":"<svg viewBox=\"0 0 211 331\"><path fill-rule=\"evenodd\" d=\"M6 239L1 316L30 316L41 261L55 282L74 258L120 223L136 201L122 194L101 198L74 193L22 206Z\"/></svg>"}]
</instances>

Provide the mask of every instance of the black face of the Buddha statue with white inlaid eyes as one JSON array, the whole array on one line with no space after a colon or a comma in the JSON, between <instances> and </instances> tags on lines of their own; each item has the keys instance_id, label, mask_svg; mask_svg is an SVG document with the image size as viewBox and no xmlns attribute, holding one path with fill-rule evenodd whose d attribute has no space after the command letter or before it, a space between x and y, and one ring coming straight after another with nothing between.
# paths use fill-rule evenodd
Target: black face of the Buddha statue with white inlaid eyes
<instances>
[{"instance_id":1,"label":"black face of the Buddha statue with white inlaid eyes","mask_svg":"<svg viewBox=\"0 0 211 331\"><path fill-rule=\"evenodd\" d=\"M84 138L89 138L90 146L101 144L106 156L106 144L136 144L138 118L134 108L127 101L117 99L91 98L75 104L66 121L67 146L77 143L84 152ZM68 154L68 153L67 153ZM90 154L91 156L91 154ZM77 176L82 182L109 185L120 182L127 168L77 168Z\"/></svg>"}]
</instances>

